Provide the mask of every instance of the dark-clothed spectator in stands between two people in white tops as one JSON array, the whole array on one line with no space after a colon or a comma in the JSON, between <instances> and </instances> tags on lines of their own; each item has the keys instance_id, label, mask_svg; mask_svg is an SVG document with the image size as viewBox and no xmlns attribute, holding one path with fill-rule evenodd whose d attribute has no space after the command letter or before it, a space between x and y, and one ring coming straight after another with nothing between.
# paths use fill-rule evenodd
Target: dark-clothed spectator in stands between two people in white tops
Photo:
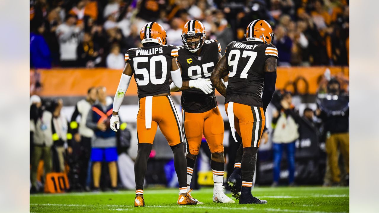
<instances>
[{"instance_id":1,"label":"dark-clothed spectator in stands between two people in white tops","mask_svg":"<svg viewBox=\"0 0 379 213\"><path fill-rule=\"evenodd\" d=\"M91 33L85 32L83 41L80 42L77 49L78 66L95 67L101 61L99 56L99 47L92 41Z\"/></svg>"}]
</instances>

